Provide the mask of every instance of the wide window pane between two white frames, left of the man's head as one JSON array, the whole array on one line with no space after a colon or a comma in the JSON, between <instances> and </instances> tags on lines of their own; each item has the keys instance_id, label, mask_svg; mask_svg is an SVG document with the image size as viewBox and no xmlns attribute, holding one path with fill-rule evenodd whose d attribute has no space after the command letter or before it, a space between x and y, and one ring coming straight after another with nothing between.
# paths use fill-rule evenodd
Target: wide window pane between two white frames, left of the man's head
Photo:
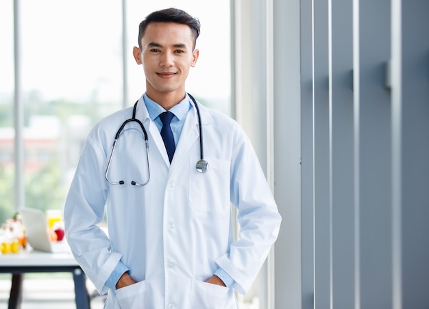
<instances>
[{"instance_id":1,"label":"wide window pane between two white frames, left of the man's head","mask_svg":"<svg viewBox=\"0 0 429 309\"><path fill-rule=\"evenodd\" d=\"M21 10L25 204L62 209L88 131L122 107L121 1Z\"/></svg>"}]
</instances>

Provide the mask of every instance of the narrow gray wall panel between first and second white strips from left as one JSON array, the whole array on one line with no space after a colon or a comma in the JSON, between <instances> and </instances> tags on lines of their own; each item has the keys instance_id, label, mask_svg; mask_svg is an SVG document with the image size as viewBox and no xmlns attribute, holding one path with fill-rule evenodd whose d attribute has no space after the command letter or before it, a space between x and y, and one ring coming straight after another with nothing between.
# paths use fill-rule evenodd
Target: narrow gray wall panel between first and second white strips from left
<instances>
[{"instance_id":1,"label":"narrow gray wall panel between first and second white strips from left","mask_svg":"<svg viewBox=\"0 0 429 309\"><path fill-rule=\"evenodd\" d=\"M315 308L330 308L328 0L313 1Z\"/></svg>"}]
</instances>

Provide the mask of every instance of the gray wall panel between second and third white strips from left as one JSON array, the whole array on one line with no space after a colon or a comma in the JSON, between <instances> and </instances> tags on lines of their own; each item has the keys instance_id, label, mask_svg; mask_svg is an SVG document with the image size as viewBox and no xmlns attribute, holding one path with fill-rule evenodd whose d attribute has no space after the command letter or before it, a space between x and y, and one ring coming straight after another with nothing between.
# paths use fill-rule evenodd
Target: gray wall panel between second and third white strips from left
<instances>
[{"instance_id":1,"label":"gray wall panel between second and third white strips from left","mask_svg":"<svg viewBox=\"0 0 429 309\"><path fill-rule=\"evenodd\" d=\"M354 308L353 5L330 0L332 306Z\"/></svg>"}]
</instances>

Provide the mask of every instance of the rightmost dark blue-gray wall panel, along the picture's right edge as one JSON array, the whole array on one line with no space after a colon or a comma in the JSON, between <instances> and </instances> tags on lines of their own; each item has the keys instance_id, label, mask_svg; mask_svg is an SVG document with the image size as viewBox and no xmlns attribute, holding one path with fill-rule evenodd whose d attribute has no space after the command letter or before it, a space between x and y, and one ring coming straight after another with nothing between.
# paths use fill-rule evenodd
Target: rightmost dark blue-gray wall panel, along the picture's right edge
<instances>
[{"instance_id":1,"label":"rightmost dark blue-gray wall panel, along the picture's right edge","mask_svg":"<svg viewBox=\"0 0 429 309\"><path fill-rule=\"evenodd\" d=\"M402 1L403 308L429 308L429 1Z\"/></svg>"}]
</instances>

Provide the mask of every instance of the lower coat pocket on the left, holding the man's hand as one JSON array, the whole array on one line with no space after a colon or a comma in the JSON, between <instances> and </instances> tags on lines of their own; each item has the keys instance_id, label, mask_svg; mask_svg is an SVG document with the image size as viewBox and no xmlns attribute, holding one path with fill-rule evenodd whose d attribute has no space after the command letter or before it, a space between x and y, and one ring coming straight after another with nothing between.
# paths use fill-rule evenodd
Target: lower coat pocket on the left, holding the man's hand
<instances>
[{"instance_id":1,"label":"lower coat pocket on the left, holding the man's hand","mask_svg":"<svg viewBox=\"0 0 429 309\"><path fill-rule=\"evenodd\" d=\"M116 291L119 306L122 309L130 308L151 308L151 297L149 293L149 284L146 281L140 281Z\"/></svg>"}]
</instances>

